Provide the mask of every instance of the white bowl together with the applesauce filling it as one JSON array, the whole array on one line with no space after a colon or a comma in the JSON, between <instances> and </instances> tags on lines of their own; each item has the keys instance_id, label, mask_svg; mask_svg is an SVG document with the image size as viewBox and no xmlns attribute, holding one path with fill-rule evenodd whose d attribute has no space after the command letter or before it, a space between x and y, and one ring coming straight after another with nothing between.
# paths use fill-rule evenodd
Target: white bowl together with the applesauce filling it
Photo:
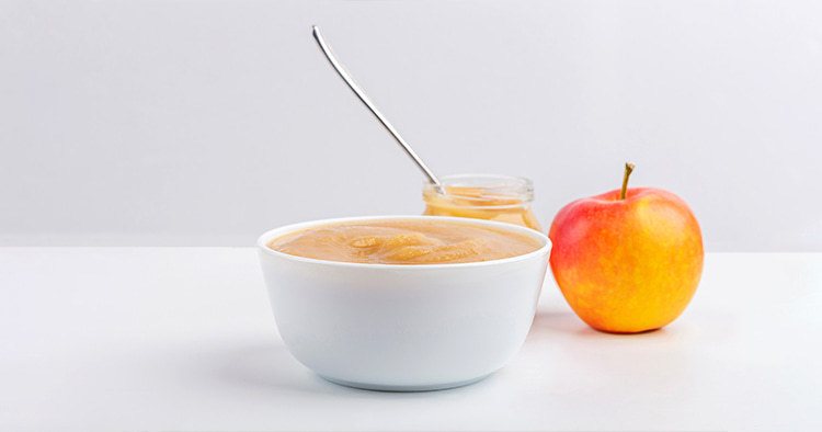
<instances>
[{"instance_id":1,"label":"white bowl together with the applesauce filling it","mask_svg":"<svg viewBox=\"0 0 822 432\"><path fill-rule=\"evenodd\" d=\"M477 238L489 243L465 243ZM441 216L302 223L258 246L294 357L328 380L393 391L458 387L502 367L534 320L551 247L529 228ZM352 258L359 247L368 252Z\"/></svg>"}]
</instances>

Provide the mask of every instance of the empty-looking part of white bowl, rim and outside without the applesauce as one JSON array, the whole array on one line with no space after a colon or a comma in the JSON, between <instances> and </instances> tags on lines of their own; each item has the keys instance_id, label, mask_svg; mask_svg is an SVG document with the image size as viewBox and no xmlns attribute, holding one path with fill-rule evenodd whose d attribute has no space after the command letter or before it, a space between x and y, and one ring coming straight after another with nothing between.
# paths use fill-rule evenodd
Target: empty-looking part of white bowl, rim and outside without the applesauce
<instances>
[{"instance_id":1,"label":"empty-looking part of white bowl, rim and outside without the applesauce","mask_svg":"<svg viewBox=\"0 0 822 432\"><path fill-rule=\"evenodd\" d=\"M541 248L502 260L423 265L335 262L266 246L334 223L424 219L520 232ZM419 391L458 387L502 367L525 341L550 240L510 224L439 216L350 217L277 228L258 240L279 334L304 365L351 387Z\"/></svg>"}]
</instances>

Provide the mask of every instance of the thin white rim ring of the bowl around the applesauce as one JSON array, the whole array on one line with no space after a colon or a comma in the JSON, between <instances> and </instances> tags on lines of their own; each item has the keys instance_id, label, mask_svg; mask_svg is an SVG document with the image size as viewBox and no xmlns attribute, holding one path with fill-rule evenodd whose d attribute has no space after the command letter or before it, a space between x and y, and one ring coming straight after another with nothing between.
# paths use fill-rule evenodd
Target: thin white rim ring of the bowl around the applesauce
<instances>
[{"instance_id":1,"label":"thin white rim ring of the bowl around the applesauce","mask_svg":"<svg viewBox=\"0 0 822 432\"><path fill-rule=\"evenodd\" d=\"M279 252L274 249L271 249L267 246L267 242L274 239L275 237L284 236L284 235L287 235L289 232L293 232L299 229L310 228L312 226L327 225L327 224L329 225L342 224L342 223L347 223L347 221L392 220L392 219L447 220L447 221L467 223L469 225L480 225L480 226L500 228L502 230L515 231L515 232L524 234L526 236L530 236L532 238L536 238L543 242L543 246L539 249L530 251L528 253L524 253L524 254L515 255L515 257L509 257L509 258L501 258L496 260L475 261L475 262L455 262L455 263L436 263L436 264L381 264L381 263L368 263L368 262L331 261L331 260L321 260L317 258L292 255L285 252ZM494 220L475 219L475 218L468 218L468 217L424 216L424 215L422 216L421 215L350 216L350 217L334 217L334 218L328 218L328 219L317 219L317 220L301 221L297 224L289 224L289 225L284 225L279 228L270 229L263 232L256 239L256 246L260 249L260 251L269 255L273 255L273 257L277 257L281 259L295 261L295 262L306 262L306 263L313 263L313 264L323 264L323 265L340 266L340 268L354 268L354 269L384 269L384 270L411 270L411 271L413 271L413 269L426 269L426 270L465 269L465 268L476 268L476 266L502 265L502 264L517 262L517 261L525 261L534 257L546 254L550 252L551 247L552 247L551 240L545 234L537 231L535 229L522 227L518 225L513 225L513 224L507 224L507 223L502 223L502 221L494 221Z\"/></svg>"}]
</instances>

